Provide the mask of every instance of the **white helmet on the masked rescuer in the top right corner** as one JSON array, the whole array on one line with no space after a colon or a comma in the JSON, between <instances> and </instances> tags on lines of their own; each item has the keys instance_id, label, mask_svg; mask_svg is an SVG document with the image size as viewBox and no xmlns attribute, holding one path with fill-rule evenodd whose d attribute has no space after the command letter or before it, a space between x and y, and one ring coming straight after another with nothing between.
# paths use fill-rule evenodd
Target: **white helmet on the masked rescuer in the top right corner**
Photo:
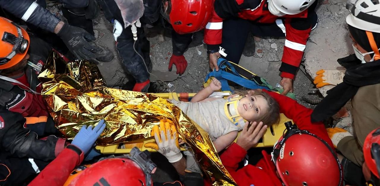
<instances>
[{"instance_id":1,"label":"white helmet on the masked rescuer in the top right corner","mask_svg":"<svg viewBox=\"0 0 380 186\"><path fill-rule=\"evenodd\" d=\"M348 0L346 8L351 12L347 24L361 30L380 33L379 0Z\"/></svg>"}]
</instances>

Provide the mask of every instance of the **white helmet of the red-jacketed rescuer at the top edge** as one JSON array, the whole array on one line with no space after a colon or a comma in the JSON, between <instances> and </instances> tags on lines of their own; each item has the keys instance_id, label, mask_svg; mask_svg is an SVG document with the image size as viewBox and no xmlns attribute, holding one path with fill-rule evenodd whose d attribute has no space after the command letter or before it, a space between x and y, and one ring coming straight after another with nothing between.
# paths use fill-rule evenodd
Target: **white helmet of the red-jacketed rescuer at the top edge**
<instances>
[{"instance_id":1,"label":"white helmet of the red-jacketed rescuer at the top edge","mask_svg":"<svg viewBox=\"0 0 380 186\"><path fill-rule=\"evenodd\" d=\"M311 6L315 0L272 0L273 5L282 13L298 14Z\"/></svg>"}]
</instances>

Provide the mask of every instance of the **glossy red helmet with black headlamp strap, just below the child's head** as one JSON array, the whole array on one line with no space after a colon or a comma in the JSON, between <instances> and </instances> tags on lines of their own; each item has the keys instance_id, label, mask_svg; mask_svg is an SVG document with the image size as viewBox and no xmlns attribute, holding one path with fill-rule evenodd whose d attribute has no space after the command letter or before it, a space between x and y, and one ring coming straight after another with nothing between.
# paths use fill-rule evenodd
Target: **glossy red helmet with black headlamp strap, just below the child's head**
<instances>
[{"instance_id":1,"label":"glossy red helmet with black headlamp strap, just below the child's head","mask_svg":"<svg viewBox=\"0 0 380 186\"><path fill-rule=\"evenodd\" d=\"M334 150L323 139L299 130L296 125L287 129L273 152L283 183L286 186L340 186L343 172Z\"/></svg>"}]
</instances>

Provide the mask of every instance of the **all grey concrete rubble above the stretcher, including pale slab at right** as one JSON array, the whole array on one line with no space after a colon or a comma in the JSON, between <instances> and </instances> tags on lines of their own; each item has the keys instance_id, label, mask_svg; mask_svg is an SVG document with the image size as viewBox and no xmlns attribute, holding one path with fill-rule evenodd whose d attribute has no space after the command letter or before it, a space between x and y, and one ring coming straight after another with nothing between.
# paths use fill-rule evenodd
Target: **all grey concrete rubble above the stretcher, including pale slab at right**
<instances>
[{"instance_id":1,"label":"all grey concrete rubble above the stretcher, including pale slab at right","mask_svg":"<svg viewBox=\"0 0 380 186\"><path fill-rule=\"evenodd\" d=\"M58 2L48 2L48 9L52 13L60 11ZM310 91L315 88L310 77L315 77L315 72L320 69L336 69L339 64L337 58L346 56L352 52L350 39L347 34L345 25L345 16L348 11L345 10L343 0L325 0L317 6L319 16L318 27L310 34L308 41L304 65L296 76L294 81L294 92L296 99L305 106L312 105L303 102L302 97L319 98L317 94ZM64 19L61 14L57 15ZM94 32L97 43L105 45L114 52L116 56L109 63L98 64L103 77L108 86L121 88L128 81L125 77L122 59L119 57L115 41L112 36L112 24L109 23L104 15L100 15L93 20ZM203 44L203 32L194 34L193 42L188 50L184 53L188 62L188 67L181 76L176 74L176 67L173 66L171 72L168 71L169 60L172 52L171 48L171 30L153 27L147 25L146 34L150 41L150 57L153 63L151 75L152 81L165 81L165 84L171 83L173 86L166 91L175 92L197 92L202 88L204 77L209 72L208 55L206 45ZM285 38L260 38L253 37L256 47L255 53L251 57L242 56L240 65L253 73L266 78L273 86L279 83L279 67L283 52ZM321 55L323 53L323 55ZM307 72L308 75L306 75ZM320 89L322 95L332 86L325 86Z\"/></svg>"}]
</instances>

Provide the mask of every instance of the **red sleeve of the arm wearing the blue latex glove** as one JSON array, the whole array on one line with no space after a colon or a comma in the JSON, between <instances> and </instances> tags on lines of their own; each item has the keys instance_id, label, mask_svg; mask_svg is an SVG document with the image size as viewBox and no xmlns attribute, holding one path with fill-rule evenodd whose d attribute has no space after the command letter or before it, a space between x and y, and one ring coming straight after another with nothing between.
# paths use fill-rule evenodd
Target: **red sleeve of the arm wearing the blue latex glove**
<instances>
[{"instance_id":1,"label":"red sleeve of the arm wearing the blue latex glove","mask_svg":"<svg viewBox=\"0 0 380 186\"><path fill-rule=\"evenodd\" d=\"M83 152L74 145L68 145L29 186L63 185L75 166L83 161Z\"/></svg>"}]
</instances>

